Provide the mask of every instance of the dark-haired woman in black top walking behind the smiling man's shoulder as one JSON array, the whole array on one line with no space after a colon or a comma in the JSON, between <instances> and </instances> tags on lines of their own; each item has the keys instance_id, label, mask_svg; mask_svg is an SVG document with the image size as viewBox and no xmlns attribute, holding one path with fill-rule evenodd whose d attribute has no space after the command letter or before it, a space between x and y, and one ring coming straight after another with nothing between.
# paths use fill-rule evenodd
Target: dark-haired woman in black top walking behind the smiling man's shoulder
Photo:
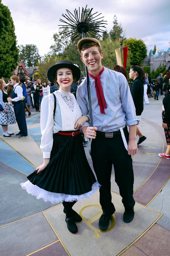
<instances>
[{"instance_id":1,"label":"dark-haired woman in black top walking behind the smiling man's shoulder","mask_svg":"<svg viewBox=\"0 0 170 256\"><path fill-rule=\"evenodd\" d=\"M134 102L134 106L136 108L136 116L139 120L141 120L141 114L143 112L143 94L145 84L145 74L141 67L139 66L131 66L129 71L129 78L133 79L133 83L131 84L130 90ZM136 135L139 136L139 140L137 145L141 144L146 137L143 136L140 129L137 127Z\"/></svg>"}]
</instances>

